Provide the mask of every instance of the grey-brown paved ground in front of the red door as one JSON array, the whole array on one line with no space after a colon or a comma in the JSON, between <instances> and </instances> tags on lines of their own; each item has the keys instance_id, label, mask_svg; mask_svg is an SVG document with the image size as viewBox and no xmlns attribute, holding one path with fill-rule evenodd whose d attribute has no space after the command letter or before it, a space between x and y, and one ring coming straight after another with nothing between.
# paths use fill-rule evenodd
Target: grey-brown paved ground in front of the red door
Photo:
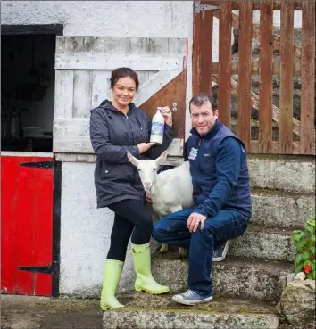
<instances>
[{"instance_id":1,"label":"grey-brown paved ground in front of the red door","mask_svg":"<svg viewBox=\"0 0 316 329\"><path fill-rule=\"evenodd\" d=\"M102 329L99 302L1 295L1 329Z\"/></svg>"}]
</instances>

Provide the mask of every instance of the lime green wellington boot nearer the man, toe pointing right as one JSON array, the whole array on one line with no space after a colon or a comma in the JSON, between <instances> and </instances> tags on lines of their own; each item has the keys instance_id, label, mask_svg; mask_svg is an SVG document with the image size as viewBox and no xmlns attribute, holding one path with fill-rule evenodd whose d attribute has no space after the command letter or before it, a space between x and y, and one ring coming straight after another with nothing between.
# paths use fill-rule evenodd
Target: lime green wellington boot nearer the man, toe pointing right
<instances>
[{"instance_id":1,"label":"lime green wellington boot nearer the man, toe pointing right","mask_svg":"<svg viewBox=\"0 0 316 329\"><path fill-rule=\"evenodd\" d=\"M129 253L133 255L134 259L134 267L137 274L135 290L137 292L145 291L153 294L170 292L169 287L158 284L152 276L149 243L132 244L132 249Z\"/></svg>"}]
</instances>

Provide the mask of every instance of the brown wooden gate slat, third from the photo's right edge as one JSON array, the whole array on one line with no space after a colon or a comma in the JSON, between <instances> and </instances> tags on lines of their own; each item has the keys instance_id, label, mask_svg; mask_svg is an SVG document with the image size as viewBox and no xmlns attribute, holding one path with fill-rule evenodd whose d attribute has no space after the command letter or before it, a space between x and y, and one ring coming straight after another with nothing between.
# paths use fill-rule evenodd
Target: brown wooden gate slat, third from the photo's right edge
<instances>
[{"instance_id":1,"label":"brown wooden gate slat, third from the photo's right edge","mask_svg":"<svg viewBox=\"0 0 316 329\"><path fill-rule=\"evenodd\" d=\"M259 144L262 153L271 152L272 142L272 48L273 3L260 7L260 86L259 86Z\"/></svg>"}]
</instances>

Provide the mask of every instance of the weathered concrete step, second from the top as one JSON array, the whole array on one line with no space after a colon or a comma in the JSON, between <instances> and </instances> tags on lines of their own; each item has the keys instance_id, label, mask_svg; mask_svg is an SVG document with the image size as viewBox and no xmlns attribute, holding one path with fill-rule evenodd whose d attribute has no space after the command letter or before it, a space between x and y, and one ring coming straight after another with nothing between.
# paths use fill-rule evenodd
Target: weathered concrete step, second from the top
<instances>
[{"instance_id":1,"label":"weathered concrete step, second from the top","mask_svg":"<svg viewBox=\"0 0 316 329\"><path fill-rule=\"evenodd\" d=\"M253 223L262 226L302 228L315 216L314 193L252 188Z\"/></svg>"}]
</instances>

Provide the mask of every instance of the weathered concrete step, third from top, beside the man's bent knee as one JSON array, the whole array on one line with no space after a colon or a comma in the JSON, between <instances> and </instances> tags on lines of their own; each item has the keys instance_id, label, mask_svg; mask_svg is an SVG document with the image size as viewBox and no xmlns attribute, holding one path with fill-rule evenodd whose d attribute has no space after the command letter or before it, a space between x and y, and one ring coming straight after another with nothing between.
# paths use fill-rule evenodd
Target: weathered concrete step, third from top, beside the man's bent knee
<instances>
[{"instance_id":1,"label":"weathered concrete step, third from top, beside the man's bent knee","mask_svg":"<svg viewBox=\"0 0 316 329\"><path fill-rule=\"evenodd\" d=\"M293 230L249 224L245 234L234 239L228 255L250 259L291 261L295 259Z\"/></svg>"}]
</instances>

